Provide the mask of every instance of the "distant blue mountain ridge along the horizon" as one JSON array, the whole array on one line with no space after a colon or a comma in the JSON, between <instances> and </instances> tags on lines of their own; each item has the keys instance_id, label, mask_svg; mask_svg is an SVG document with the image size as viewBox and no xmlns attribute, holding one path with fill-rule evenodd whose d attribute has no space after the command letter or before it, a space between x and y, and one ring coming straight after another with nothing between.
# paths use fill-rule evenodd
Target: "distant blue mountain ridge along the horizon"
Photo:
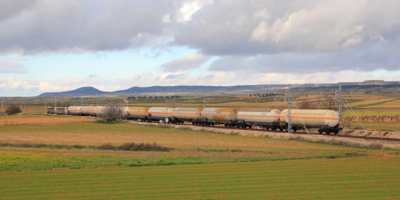
<instances>
[{"instance_id":1,"label":"distant blue mountain ridge along the horizon","mask_svg":"<svg viewBox=\"0 0 400 200\"><path fill-rule=\"evenodd\" d=\"M400 81L366 80L363 82L340 82L328 84L293 84L293 88L313 88L313 87L338 87L357 86L357 85L398 85ZM128 88L114 92L105 92L94 87L82 87L76 90L65 92L45 92L39 96L94 96L96 94L135 94L147 92L213 92L213 91L239 91L239 90L267 90L273 88L284 88L287 84L265 84L265 85L239 85L239 86L151 86Z\"/></svg>"}]
</instances>

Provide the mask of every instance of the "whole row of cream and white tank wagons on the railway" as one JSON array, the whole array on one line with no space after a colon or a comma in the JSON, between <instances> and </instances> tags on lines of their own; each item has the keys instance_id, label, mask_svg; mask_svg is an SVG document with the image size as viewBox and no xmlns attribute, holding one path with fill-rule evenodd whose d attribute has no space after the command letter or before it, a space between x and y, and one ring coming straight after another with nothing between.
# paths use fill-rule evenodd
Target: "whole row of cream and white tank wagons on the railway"
<instances>
[{"instance_id":1,"label":"whole row of cream and white tank wagons on the railway","mask_svg":"<svg viewBox=\"0 0 400 200\"><path fill-rule=\"evenodd\" d=\"M51 107L50 107L51 108ZM54 108L53 108L54 109ZM104 106L70 106L66 114L80 116L98 116ZM51 111L51 110L50 110ZM252 128L263 127L267 130L286 130L288 110L270 108L186 108L186 107L123 107L122 112L128 120L183 124L191 122L196 125ZM302 110L292 109L292 130L317 128L319 133L338 134L339 115L334 110Z\"/></svg>"}]
</instances>

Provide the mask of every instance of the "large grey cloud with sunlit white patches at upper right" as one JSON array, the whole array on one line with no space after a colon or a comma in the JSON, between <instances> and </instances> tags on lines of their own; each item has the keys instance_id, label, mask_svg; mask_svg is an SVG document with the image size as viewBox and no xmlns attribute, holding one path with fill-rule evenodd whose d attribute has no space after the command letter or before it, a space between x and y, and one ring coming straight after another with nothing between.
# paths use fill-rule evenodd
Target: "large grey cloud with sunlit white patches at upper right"
<instances>
[{"instance_id":1,"label":"large grey cloud with sunlit white patches at upper right","mask_svg":"<svg viewBox=\"0 0 400 200\"><path fill-rule=\"evenodd\" d=\"M400 2L215 1L177 30L174 45L205 55L334 52L398 41Z\"/></svg>"}]
</instances>

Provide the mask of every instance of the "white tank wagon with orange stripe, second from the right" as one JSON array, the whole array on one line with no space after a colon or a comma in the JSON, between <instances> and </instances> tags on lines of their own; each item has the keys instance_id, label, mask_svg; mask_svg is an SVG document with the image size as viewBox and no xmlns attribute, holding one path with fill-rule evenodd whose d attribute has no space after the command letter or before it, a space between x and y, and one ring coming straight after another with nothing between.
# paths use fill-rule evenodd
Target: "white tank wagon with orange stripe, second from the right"
<instances>
[{"instance_id":1,"label":"white tank wagon with orange stripe, second from the right","mask_svg":"<svg viewBox=\"0 0 400 200\"><path fill-rule=\"evenodd\" d=\"M253 125L267 129L279 128L279 116L281 111L275 108L242 108L238 110L237 128L251 128Z\"/></svg>"}]
</instances>

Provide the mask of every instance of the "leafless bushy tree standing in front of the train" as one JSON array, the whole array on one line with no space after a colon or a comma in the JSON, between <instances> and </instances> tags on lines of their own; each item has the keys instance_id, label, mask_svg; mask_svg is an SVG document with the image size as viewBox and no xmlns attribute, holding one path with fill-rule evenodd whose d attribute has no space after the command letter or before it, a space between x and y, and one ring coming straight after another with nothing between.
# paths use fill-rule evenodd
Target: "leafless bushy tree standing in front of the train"
<instances>
[{"instance_id":1,"label":"leafless bushy tree standing in front of the train","mask_svg":"<svg viewBox=\"0 0 400 200\"><path fill-rule=\"evenodd\" d=\"M122 120L125 118L125 108L121 100L107 100L106 106L104 106L102 112L98 116L105 122Z\"/></svg>"}]
</instances>

